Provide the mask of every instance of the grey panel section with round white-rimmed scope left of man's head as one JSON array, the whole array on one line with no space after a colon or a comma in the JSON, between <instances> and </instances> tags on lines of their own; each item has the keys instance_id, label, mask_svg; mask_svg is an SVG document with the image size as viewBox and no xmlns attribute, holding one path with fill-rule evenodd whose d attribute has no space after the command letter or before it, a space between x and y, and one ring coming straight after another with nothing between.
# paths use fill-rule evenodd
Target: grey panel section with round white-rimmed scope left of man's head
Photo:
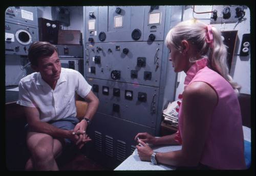
<instances>
[{"instance_id":1,"label":"grey panel section with round white-rimmed scope left of man's head","mask_svg":"<svg viewBox=\"0 0 256 176\"><path fill-rule=\"evenodd\" d=\"M5 21L5 53L28 55L28 48L38 41L38 28L13 21Z\"/></svg>"}]
</instances>

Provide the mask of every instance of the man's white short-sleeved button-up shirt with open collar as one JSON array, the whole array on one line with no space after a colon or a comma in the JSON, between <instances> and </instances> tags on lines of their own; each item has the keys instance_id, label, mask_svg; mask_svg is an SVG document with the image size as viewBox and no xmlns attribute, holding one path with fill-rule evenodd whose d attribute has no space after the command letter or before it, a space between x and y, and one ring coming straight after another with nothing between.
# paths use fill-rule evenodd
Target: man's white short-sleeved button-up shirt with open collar
<instances>
[{"instance_id":1,"label":"man's white short-sleeved button-up shirt with open collar","mask_svg":"<svg viewBox=\"0 0 256 176\"><path fill-rule=\"evenodd\" d=\"M53 90L39 72L34 72L20 80L17 104L38 108L40 120L48 122L76 116L75 92L86 97L92 86L81 73L69 68L61 68L60 78Z\"/></svg>"}]
</instances>

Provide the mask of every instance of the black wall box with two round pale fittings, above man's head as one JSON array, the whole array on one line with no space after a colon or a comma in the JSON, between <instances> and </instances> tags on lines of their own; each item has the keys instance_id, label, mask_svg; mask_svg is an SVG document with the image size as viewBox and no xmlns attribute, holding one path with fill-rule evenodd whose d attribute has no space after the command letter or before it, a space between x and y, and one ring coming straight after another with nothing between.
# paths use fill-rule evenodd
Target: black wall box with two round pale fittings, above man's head
<instances>
[{"instance_id":1,"label":"black wall box with two round pale fittings, above man's head","mask_svg":"<svg viewBox=\"0 0 256 176\"><path fill-rule=\"evenodd\" d=\"M38 18L39 41L58 42L59 22L45 18Z\"/></svg>"}]
</instances>

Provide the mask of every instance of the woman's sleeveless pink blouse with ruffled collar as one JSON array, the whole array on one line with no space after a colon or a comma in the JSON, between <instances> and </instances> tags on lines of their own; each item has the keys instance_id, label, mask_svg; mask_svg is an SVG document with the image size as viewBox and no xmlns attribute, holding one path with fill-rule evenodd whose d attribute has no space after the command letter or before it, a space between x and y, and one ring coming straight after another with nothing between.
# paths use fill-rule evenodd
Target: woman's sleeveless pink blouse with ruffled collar
<instances>
[{"instance_id":1,"label":"woman's sleeveless pink blouse with ruffled collar","mask_svg":"<svg viewBox=\"0 0 256 176\"><path fill-rule=\"evenodd\" d=\"M189 68L185 85L200 81L207 83L218 96L218 104L211 117L208 137L200 163L215 169L245 169L242 117L237 94L231 85L206 65L203 58ZM185 86L186 88L186 86ZM182 97L182 96L181 96ZM179 108L179 130L176 140L182 143L183 113Z\"/></svg>"}]
</instances>

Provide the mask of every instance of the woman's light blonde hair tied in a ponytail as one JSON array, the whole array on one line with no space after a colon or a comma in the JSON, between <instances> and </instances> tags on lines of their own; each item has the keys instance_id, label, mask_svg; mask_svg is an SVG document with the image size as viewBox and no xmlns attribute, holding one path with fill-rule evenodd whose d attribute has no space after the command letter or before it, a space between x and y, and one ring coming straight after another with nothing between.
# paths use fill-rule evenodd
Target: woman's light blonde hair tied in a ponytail
<instances>
[{"instance_id":1,"label":"woman's light blonde hair tied in a ponytail","mask_svg":"<svg viewBox=\"0 0 256 176\"><path fill-rule=\"evenodd\" d=\"M165 38L165 44L167 46L169 44L173 44L181 51L181 41L190 41L196 46L197 54L200 55L198 58L193 57L194 61L201 59L202 57L207 58L209 60L208 66L212 70L218 72L229 82L234 91L239 93L241 86L234 82L229 74L229 69L227 66L227 46L224 45L222 41L221 32L215 27L211 27L211 29L214 38L212 48L210 48L210 44L206 42L207 24L195 19L178 23L168 32Z\"/></svg>"}]
</instances>

